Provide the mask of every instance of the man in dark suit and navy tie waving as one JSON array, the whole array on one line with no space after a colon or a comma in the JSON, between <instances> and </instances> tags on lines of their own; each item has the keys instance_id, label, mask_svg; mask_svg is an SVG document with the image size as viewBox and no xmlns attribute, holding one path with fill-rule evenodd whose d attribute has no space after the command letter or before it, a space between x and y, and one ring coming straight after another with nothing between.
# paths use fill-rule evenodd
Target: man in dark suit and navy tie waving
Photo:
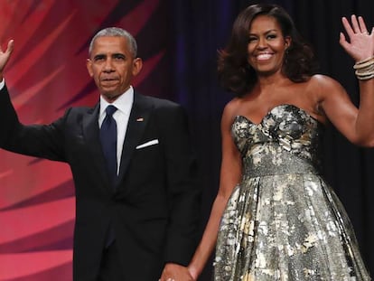
<instances>
[{"instance_id":1,"label":"man in dark suit and navy tie waving","mask_svg":"<svg viewBox=\"0 0 374 281\"><path fill-rule=\"evenodd\" d=\"M177 104L131 86L142 69L133 36L114 27L94 36L87 68L98 104L70 108L48 126L18 121L3 79L13 48L0 50L0 146L70 164L74 280L189 280L183 266L195 248L200 190L187 119Z\"/></svg>"}]
</instances>

